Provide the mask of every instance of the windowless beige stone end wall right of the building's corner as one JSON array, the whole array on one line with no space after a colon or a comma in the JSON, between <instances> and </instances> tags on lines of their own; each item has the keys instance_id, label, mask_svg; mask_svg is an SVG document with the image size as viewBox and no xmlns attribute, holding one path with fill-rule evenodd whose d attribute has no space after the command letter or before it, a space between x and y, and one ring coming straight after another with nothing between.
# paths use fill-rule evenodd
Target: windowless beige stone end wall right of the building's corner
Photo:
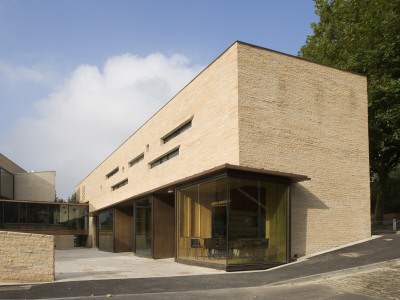
<instances>
[{"instance_id":1,"label":"windowless beige stone end wall right of the building's corner","mask_svg":"<svg viewBox=\"0 0 400 300\"><path fill-rule=\"evenodd\" d=\"M307 175L292 193L292 254L370 231L364 76L238 45L240 165Z\"/></svg>"}]
</instances>

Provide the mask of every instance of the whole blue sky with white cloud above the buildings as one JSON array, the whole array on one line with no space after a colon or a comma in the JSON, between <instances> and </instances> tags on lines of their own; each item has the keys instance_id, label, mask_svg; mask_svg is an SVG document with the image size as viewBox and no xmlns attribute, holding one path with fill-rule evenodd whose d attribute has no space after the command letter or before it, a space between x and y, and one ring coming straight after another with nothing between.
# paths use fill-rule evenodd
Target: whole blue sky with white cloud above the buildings
<instances>
[{"instance_id":1,"label":"whole blue sky with white cloud above the buildings","mask_svg":"<svg viewBox=\"0 0 400 300\"><path fill-rule=\"evenodd\" d=\"M297 55L312 0L0 0L0 153L75 187L235 41Z\"/></svg>"}]
</instances>

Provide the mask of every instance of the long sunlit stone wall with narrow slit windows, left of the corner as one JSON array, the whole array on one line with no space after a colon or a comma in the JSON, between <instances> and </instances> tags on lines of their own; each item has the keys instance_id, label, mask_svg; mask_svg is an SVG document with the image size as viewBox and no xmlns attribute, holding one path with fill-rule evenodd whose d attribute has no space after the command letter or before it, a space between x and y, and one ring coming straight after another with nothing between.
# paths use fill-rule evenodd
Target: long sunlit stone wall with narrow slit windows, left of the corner
<instances>
[{"instance_id":1,"label":"long sunlit stone wall with narrow slit windows, left of the corner","mask_svg":"<svg viewBox=\"0 0 400 300\"><path fill-rule=\"evenodd\" d=\"M77 187L93 211L215 166L238 164L236 44L200 73ZM192 127L166 144L161 138L192 119ZM148 147L147 147L148 145ZM149 163L180 146L179 156L150 169ZM144 153L144 160L129 161ZM106 179L106 174L119 172ZM111 187L128 178L128 184Z\"/></svg>"}]
</instances>

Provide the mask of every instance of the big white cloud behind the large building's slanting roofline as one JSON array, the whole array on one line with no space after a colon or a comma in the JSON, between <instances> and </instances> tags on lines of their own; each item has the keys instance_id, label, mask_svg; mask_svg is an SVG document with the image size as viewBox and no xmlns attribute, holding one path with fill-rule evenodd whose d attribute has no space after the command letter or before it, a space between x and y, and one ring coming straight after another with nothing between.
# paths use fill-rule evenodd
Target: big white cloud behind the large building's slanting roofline
<instances>
[{"instance_id":1,"label":"big white cloud behind the large building's slanting roofline","mask_svg":"<svg viewBox=\"0 0 400 300\"><path fill-rule=\"evenodd\" d=\"M182 55L160 53L112 57L102 71L81 65L35 103L39 117L16 120L0 151L27 170L55 170L57 194L66 199L200 70ZM41 80L30 70L8 74Z\"/></svg>"}]
</instances>

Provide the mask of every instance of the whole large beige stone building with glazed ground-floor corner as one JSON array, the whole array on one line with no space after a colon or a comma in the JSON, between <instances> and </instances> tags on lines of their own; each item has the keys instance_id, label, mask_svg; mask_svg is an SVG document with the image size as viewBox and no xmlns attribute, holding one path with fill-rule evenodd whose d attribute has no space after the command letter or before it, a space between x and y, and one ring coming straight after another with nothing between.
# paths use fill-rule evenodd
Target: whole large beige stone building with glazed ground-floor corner
<instances>
[{"instance_id":1,"label":"whole large beige stone building with glazed ground-floor corner","mask_svg":"<svg viewBox=\"0 0 400 300\"><path fill-rule=\"evenodd\" d=\"M370 237L367 79L235 42L77 198L100 250L228 271Z\"/></svg>"}]
</instances>

